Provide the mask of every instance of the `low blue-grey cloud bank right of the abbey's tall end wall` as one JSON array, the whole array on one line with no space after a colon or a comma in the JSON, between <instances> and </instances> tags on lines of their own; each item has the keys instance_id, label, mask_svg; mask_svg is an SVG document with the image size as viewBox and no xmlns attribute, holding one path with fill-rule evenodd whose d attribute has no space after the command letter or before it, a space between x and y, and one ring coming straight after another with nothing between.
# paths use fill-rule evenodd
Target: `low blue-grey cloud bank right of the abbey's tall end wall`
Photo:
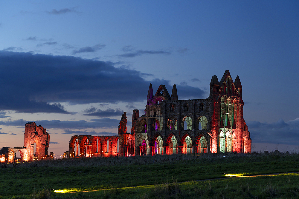
<instances>
[{"instance_id":1,"label":"low blue-grey cloud bank right of the abbey's tall end wall","mask_svg":"<svg viewBox=\"0 0 299 199\"><path fill-rule=\"evenodd\" d=\"M271 124L259 121L248 121L246 124L250 131L252 142L299 144L299 118L287 122L280 119Z\"/></svg>"}]
</instances>

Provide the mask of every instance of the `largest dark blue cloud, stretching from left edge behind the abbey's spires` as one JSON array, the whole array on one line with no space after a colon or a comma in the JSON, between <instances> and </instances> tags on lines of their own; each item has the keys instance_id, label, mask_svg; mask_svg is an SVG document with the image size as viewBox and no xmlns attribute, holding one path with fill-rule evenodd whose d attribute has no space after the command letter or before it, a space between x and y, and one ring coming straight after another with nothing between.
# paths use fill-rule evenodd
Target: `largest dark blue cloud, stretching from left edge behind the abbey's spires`
<instances>
[{"instance_id":1,"label":"largest dark blue cloud, stretching from left edge behind the abbey's spires","mask_svg":"<svg viewBox=\"0 0 299 199\"><path fill-rule=\"evenodd\" d=\"M149 84L155 89L167 80L145 81L143 73L111 62L0 51L0 110L69 113L58 102L71 104L144 101ZM204 91L177 86L179 98L202 98ZM171 93L170 93L171 94ZM54 103L55 102L55 103Z\"/></svg>"}]
</instances>

